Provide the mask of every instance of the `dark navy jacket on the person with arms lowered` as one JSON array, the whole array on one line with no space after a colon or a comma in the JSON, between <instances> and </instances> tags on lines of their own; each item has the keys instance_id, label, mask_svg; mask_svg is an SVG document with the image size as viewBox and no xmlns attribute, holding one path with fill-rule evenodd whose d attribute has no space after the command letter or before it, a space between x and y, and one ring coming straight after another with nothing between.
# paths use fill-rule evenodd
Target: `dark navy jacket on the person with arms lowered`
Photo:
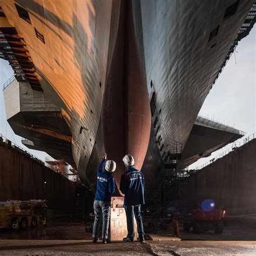
<instances>
[{"instance_id":1,"label":"dark navy jacket on the person with arms lowered","mask_svg":"<svg viewBox=\"0 0 256 256\"><path fill-rule=\"evenodd\" d=\"M124 205L145 204L144 176L133 166L127 167L121 176L120 191L124 196Z\"/></svg>"}]
</instances>

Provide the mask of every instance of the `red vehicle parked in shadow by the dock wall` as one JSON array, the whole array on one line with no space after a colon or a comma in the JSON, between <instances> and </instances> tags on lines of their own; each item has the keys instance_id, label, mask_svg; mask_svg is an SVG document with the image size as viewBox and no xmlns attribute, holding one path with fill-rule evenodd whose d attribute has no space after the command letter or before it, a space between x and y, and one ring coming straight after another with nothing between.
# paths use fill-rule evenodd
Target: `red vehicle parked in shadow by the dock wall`
<instances>
[{"instance_id":1,"label":"red vehicle parked in shadow by the dock wall","mask_svg":"<svg viewBox=\"0 0 256 256\"><path fill-rule=\"evenodd\" d=\"M204 211L201 209L192 210L189 221L184 221L183 230L189 231L192 227L193 233L214 230L215 234L223 233L223 220L225 220L225 210Z\"/></svg>"}]
</instances>

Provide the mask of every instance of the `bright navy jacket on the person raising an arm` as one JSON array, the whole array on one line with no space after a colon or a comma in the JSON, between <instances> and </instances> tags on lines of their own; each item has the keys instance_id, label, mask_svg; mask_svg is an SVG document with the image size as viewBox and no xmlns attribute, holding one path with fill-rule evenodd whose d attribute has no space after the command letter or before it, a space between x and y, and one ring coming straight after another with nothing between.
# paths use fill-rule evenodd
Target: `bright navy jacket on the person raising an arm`
<instances>
[{"instance_id":1,"label":"bright navy jacket on the person raising an arm","mask_svg":"<svg viewBox=\"0 0 256 256\"><path fill-rule=\"evenodd\" d=\"M102 160L97 170L97 191L95 200L110 202L111 194L114 193L114 178L111 173L104 171L106 160Z\"/></svg>"}]
</instances>

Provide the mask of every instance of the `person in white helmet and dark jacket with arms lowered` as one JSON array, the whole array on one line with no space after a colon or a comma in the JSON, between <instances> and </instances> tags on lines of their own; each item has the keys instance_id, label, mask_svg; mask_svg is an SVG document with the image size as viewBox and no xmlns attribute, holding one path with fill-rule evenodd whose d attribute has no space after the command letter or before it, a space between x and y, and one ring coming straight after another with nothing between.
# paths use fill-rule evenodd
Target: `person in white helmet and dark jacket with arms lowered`
<instances>
[{"instance_id":1,"label":"person in white helmet and dark jacket with arms lowered","mask_svg":"<svg viewBox=\"0 0 256 256\"><path fill-rule=\"evenodd\" d=\"M145 204L144 200L144 176L143 173L134 168L134 159L130 154L124 158L125 172L120 181L120 191L124 196L124 208L127 220L128 235L123 239L126 242L134 241L134 215L137 221L138 240L144 241L144 230L140 205Z\"/></svg>"}]
</instances>

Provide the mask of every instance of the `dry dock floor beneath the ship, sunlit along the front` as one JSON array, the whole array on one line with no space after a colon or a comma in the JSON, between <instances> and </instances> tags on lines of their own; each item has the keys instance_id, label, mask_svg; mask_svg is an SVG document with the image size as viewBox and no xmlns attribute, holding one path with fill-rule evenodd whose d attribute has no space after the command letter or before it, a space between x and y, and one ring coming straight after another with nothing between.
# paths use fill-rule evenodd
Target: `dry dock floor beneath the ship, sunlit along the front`
<instances>
[{"instance_id":1,"label":"dry dock floor beneath the ship, sunlit along the front","mask_svg":"<svg viewBox=\"0 0 256 256\"><path fill-rule=\"evenodd\" d=\"M144 243L112 242L93 244L85 226L59 221L46 228L0 232L0 255L256 255L256 228L231 224L221 235L181 231L181 240L172 230L157 231Z\"/></svg>"}]
</instances>

